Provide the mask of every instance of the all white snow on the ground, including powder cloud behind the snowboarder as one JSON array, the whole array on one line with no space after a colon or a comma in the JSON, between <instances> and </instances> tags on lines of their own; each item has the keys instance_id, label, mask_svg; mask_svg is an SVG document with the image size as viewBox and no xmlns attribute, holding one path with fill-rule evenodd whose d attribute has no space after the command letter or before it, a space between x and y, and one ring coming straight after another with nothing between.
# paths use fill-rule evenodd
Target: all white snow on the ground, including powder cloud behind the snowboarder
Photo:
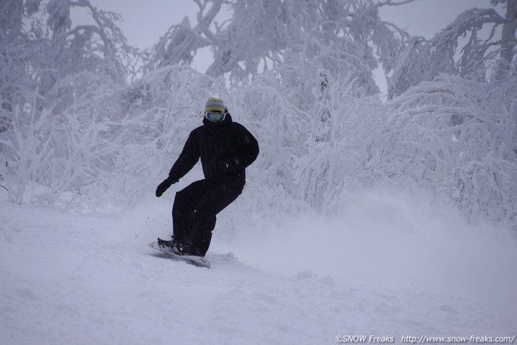
<instances>
[{"instance_id":1,"label":"all white snow on the ground, including powder cloud behind the snowboarder","mask_svg":"<svg viewBox=\"0 0 517 345\"><path fill-rule=\"evenodd\" d=\"M0 344L516 334L517 251L505 232L371 193L340 217L249 222L223 240L229 211L207 269L147 247L169 234L169 207L93 217L0 202Z\"/></svg>"}]
</instances>

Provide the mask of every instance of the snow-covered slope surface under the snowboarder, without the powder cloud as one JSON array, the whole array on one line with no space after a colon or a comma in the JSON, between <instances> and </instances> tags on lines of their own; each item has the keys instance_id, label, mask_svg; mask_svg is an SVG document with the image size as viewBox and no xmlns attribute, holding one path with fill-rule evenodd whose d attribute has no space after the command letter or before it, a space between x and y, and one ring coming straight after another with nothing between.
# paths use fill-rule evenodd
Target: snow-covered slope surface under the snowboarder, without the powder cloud
<instances>
[{"instance_id":1,"label":"snow-covered slope surface under the snowboarder, without the powder cloud","mask_svg":"<svg viewBox=\"0 0 517 345\"><path fill-rule=\"evenodd\" d=\"M506 296L502 305L443 293L433 285L383 286L390 271L382 271L389 270L382 265L388 251L379 253L379 244L373 244L377 254L369 255L381 267L372 274L382 278L368 282L353 272L325 271L321 258L335 258L329 267L355 265L356 271L373 267L364 259L351 264L337 254L302 256L293 249L287 261L265 259L261 265L259 251L244 241L227 244L217 236L208 253L212 268L171 261L146 245L166 229L166 220L150 213L91 217L2 202L0 220L0 344L335 344L339 335L392 336L400 343L408 335L512 336L517 331L515 296ZM348 235L356 247L367 240ZM309 237L300 232L293 247L304 249L300 242ZM387 239L381 241L393 245ZM348 255L358 253L353 243L341 246ZM403 256L392 254L404 264ZM306 269L293 273L300 265Z\"/></svg>"}]
</instances>

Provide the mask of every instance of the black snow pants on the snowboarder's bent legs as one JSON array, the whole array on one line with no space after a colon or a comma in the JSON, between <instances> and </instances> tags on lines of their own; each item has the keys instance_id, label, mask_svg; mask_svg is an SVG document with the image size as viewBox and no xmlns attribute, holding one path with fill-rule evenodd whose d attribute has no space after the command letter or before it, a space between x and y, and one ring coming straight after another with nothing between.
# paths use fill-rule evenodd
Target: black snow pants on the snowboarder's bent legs
<instances>
[{"instance_id":1,"label":"black snow pants on the snowboarder's bent legs","mask_svg":"<svg viewBox=\"0 0 517 345\"><path fill-rule=\"evenodd\" d=\"M191 242L204 256L210 247L217 213L242 193L245 181L200 180L176 193L172 207L174 239Z\"/></svg>"}]
</instances>

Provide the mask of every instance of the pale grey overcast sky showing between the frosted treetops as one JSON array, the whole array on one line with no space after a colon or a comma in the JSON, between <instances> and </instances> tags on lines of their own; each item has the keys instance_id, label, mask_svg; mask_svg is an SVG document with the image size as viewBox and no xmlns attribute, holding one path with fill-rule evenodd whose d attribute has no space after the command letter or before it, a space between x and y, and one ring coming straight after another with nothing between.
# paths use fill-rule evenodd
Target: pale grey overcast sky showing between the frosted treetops
<instances>
[{"instance_id":1,"label":"pale grey overcast sky showing between the frosted treetops","mask_svg":"<svg viewBox=\"0 0 517 345\"><path fill-rule=\"evenodd\" d=\"M118 23L123 29L128 43L140 49L152 47L169 27L183 21L185 16L195 26L198 6L189 0L90 0L93 6L105 11L120 13L124 21ZM402 0L395 0L402 1ZM462 11L472 7L491 8L490 0L417 0L401 6L384 6L380 16L385 21L405 28L411 35L432 38L440 29L445 28ZM76 13L74 21L86 18L86 13ZM198 52L193 68L200 72L210 65L210 53ZM385 82L377 80L382 93Z\"/></svg>"}]
</instances>

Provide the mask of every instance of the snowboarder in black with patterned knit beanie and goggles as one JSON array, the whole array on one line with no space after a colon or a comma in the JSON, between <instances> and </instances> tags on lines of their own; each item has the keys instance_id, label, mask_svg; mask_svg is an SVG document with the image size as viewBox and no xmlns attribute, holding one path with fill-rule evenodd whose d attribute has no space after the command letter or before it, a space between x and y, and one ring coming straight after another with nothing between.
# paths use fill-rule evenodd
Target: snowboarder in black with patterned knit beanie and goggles
<instances>
[{"instance_id":1,"label":"snowboarder in black with patterned knit beanie and goggles","mask_svg":"<svg viewBox=\"0 0 517 345\"><path fill-rule=\"evenodd\" d=\"M181 255L205 256L217 213L242 193L245 168L258 156L255 137L243 125L233 122L222 100L210 98L203 116L203 125L188 136L169 177L156 191L160 197L201 159L205 179L176 193L172 207L172 240L158 239L160 247L168 247Z\"/></svg>"}]
</instances>

